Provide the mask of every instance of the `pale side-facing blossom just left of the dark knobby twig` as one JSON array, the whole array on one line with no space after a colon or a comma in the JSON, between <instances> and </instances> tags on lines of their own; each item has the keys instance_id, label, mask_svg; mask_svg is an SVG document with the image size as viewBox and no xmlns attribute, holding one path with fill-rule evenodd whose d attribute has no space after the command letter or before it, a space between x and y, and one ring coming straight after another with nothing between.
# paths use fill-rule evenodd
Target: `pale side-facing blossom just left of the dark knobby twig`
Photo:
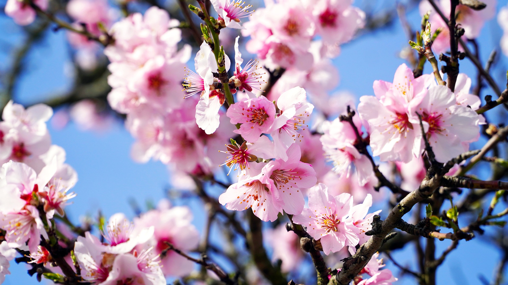
<instances>
[{"instance_id":1,"label":"pale side-facing blossom just left of the dark knobby twig","mask_svg":"<svg viewBox=\"0 0 508 285\"><path fill-rule=\"evenodd\" d=\"M359 132L361 132L360 127L361 125L357 125ZM358 138L351 124L341 122L337 118L333 122L324 122L322 128L324 131L321 137L323 150L325 156L333 162L335 173L340 176L349 176L354 165L358 183L364 186L373 173L372 163L366 155L360 154L356 149L355 144Z\"/></svg>"}]
</instances>

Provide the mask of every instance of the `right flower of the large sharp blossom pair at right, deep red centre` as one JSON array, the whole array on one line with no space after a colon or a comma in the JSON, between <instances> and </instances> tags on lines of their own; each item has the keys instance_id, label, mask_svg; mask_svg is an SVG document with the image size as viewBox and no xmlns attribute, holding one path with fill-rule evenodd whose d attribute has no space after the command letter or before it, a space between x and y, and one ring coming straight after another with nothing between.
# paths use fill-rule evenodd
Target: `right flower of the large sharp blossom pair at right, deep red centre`
<instances>
[{"instance_id":1,"label":"right flower of the large sharp blossom pair at right, deep red centre","mask_svg":"<svg viewBox=\"0 0 508 285\"><path fill-rule=\"evenodd\" d=\"M480 116L457 105L455 95L446 86L430 88L414 112L422 115L427 139L439 162L458 156L467 150L468 142L478 139Z\"/></svg>"}]
</instances>

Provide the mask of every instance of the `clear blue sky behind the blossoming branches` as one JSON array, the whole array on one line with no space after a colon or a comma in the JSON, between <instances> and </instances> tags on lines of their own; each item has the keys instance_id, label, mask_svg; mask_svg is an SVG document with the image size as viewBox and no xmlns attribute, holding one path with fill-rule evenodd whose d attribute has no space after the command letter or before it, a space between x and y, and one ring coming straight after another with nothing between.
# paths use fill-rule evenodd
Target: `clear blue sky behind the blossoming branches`
<instances>
[{"instance_id":1,"label":"clear blue sky behind the blossoming branches","mask_svg":"<svg viewBox=\"0 0 508 285\"><path fill-rule=\"evenodd\" d=\"M505 5L506 1L498 3L498 7ZM412 27L419 26L418 11L412 11L407 18ZM4 69L10 64L8 51L13 46L19 45L22 38L20 28L5 15L0 17L0 25L2 26L0 64ZM479 39L482 62L486 61L492 49L499 50L501 35L502 31L496 19L485 25ZM406 35L397 19L388 28L363 35L344 45L341 55L333 61L340 73L340 85L337 90L350 91L357 97L372 95L374 80L392 81L395 69L404 63L404 60L397 56L398 52L406 45ZM45 40L28 55L26 72L21 76L15 89L15 100L29 104L65 92L72 83L72 79L66 75L69 60L65 33L61 30L57 32L49 30ZM499 86L503 86L506 63L506 56L500 55L500 60L493 68L493 76ZM427 65L426 73L430 72L428 68ZM475 72L472 64L465 59L460 62L460 68L473 78L474 85ZM484 89L483 94L494 95L488 88ZM504 110L500 108L495 110L490 118L494 121L506 121L505 116L497 116L497 111ZM129 156L134 140L121 123L106 133L83 132L72 122L63 130L50 127L49 131L53 144L67 151L67 163L72 165L79 175L79 182L73 189L78 196L74 198L74 204L67 208L73 221L78 221L83 215L94 217L99 209L106 217L120 211L132 217L134 212L129 205L130 199L144 205L146 201L156 202L164 197L164 191L170 181L166 166L160 162L135 163ZM199 210L200 204L192 203L189 206L196 209L195 224L201 231L205 216L203 211ZM440 251L448 247L450 241L436 241L436 244L439 255ZM412 258L413 255L412 247L393 254L401 264L406 264L406 261L410 260L408 257ZM450 254L439 268L439 283L478 284L480 274L490 280L498 260L499 253L489 242L479 241L478 238L468 242L461 241L458 249ZM394 268L390 262L387 263L388 268ZM12 264L10 270L12 275L7 276L5 284L36 282L35 278L30 278L24 273L24 265ZM394 272L398 270L395 269ZM404 278L398 284L414 282L412 278Z\"/></svg>"}]
</instances>

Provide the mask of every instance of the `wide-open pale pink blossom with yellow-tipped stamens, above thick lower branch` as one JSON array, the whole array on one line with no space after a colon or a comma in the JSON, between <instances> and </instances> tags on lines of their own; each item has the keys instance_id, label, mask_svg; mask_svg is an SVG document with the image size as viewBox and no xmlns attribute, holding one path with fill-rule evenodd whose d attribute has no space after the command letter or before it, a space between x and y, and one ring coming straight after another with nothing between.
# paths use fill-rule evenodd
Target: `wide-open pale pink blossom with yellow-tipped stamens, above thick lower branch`
<instances>
[{"instance_id":1,"label":"wide-open pale pink blossom with yellow-tipped stamens, above thick lower branch","mask_svg":"<svg viewBox=\"0 0 508 285\"><path fill-rule=\"evenodd\" d=\"M358 244L360 230L348 218L353 206L350 194L333 197L326 185L320 183L310 189L308 204L301 215L293 216L293 222L305 226L310 236L321 240L326 255Z\"/></svg>"}]
</instances>

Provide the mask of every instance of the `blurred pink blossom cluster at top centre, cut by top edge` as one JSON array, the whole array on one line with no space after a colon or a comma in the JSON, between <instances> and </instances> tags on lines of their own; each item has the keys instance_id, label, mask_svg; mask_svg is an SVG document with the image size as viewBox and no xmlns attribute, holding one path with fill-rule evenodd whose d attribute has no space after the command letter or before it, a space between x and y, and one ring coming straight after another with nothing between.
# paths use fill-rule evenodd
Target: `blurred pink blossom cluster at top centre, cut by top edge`
<instances>
[{"instance_id":1,"label":"blurred pink blossom cluster at top centre, cut by top edge","mask_svg":"<svg viewBox=\"0 0 508 285\"><path fill-rule=\"evenodd\" d=\"M327 98L338 84L338 71L330 58L364 25L365 13L352 2L265 1L265 8L252 13L242 30L250 36L247 51L257 54L269 69L285 69L270 99L296 86L316 96L315 104Z\"/></svg>"}]
</instances>

